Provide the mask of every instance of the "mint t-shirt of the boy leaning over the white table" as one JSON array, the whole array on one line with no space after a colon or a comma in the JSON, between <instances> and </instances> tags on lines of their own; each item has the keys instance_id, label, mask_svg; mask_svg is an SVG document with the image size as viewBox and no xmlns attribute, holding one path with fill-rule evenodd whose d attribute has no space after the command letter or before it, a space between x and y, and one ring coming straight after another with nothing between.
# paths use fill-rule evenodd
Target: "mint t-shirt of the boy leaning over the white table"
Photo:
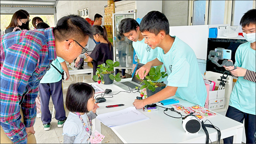
<instances>
[{"instance_id":1,"label":"mint t-shirt of the boy leaning over the white table","mask_svg":"<svg viewBox=\"0 0 256 144\"><path fill-rule=\"evenodd\" d=\"M175 37L175 36L172 36ZM175 37L169 52L159 48L157 59L164 63L168 86L178 87L175 95L183 100L204 106L207 97L203 76L192 48Z\"/></svg>"}]
</instances>

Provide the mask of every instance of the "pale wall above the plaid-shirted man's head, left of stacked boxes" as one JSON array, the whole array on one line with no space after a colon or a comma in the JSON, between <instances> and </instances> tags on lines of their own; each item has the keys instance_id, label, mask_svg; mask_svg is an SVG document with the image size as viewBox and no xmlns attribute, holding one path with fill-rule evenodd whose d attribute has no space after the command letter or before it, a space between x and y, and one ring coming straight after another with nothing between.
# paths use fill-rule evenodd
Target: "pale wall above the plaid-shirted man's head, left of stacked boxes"
<instances>
[{"instance_id":1,"label":"pale wall above the plaid-shirted man's head, left of stacked boxes","mask_svg":"<svg viewBox=\"0 0 256 144\"><path fill-rule=\"evenodd\" d=\"M89 18L94 20L94 15L99 13L103 16L102 24L104 24L104 5L107 5L107 0L85 0L85 1L58 1L56 5L57 20L68 14L78 14L78 10L88 8Z\"/></svg>"}]
</instances>

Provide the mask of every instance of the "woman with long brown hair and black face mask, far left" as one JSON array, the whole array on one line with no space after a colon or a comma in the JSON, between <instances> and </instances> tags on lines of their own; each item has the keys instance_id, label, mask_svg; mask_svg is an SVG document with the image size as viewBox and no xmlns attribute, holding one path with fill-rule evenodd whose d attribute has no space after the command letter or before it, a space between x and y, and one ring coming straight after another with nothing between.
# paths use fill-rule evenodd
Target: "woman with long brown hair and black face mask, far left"
<instances>
[{"instance_id":1,"label":"woman with long brown hair and black face mask, far left","mask_svg":"<svg viewBox=\"0 0 256 144\"><path fill-rule=\"evenodd\" d=\"M28 15L25 12L17 11L12 15L12 20L9 26L5 29L5 34L19 31L26 28L26 22L28 21Z\"/></svg>"}]
</instances>

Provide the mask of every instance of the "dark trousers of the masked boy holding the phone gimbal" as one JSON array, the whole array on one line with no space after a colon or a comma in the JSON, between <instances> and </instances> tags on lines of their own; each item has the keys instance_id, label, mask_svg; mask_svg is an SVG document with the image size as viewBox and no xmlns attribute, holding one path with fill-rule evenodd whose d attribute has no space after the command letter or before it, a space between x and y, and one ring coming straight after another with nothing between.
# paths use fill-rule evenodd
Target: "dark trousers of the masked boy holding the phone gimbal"
<instances>
[{"instance_id":1,"label":"dark trousers of the masked boy holding the phone gimbal","mask_svg":"<svg viewBox=\"0 0 256 144\"><path fill-rule=\"evenodd\" d=\"M228 106L226 116L240 123L244 121L246 143L255 143L255 115L244 113L234 107ZM233 143L233 136L223 139L223 143Z\"/></svg>"}]
</instances>

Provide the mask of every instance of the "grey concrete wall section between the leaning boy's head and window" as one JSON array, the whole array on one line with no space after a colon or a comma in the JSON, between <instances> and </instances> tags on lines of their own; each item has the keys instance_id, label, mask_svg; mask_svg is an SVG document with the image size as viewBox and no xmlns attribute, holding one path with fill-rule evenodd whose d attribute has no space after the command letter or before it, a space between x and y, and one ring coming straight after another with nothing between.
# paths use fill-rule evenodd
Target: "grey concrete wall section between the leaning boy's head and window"
<instances>
[{"instance_id":1,"label":"grey concrete wall section between the leaning boy's head and window","mask_svg":"<svg viewBox=\"0 0 256 144\"><path fill-rule=\"evenodd\" d=\"M189 2L184 0L163 0L162 12L167 17L170 26L188 25Z\"/></svg>"}]
</instances>

